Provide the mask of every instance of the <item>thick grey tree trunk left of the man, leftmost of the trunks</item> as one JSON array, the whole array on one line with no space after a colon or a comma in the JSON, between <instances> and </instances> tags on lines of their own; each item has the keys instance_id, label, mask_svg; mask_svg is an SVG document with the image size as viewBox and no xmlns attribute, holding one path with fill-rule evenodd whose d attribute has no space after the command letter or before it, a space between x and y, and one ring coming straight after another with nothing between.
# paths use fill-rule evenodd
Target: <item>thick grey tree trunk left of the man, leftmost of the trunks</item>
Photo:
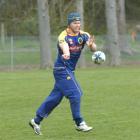
<instances>
[{"instance_id":1,"label":"thick grey tree trunk left of the man, leftmost of the trunks","mask_svg":"<svg viewBox=\"0 0 140 140\"><path fill-rule=\"evenodd\" d=\"M51 58L51 34L48 0L38 0L38 19L39 19L39 36L40 36L40 54L42 69L52 66Z\"/></svg>"}]
</instances>

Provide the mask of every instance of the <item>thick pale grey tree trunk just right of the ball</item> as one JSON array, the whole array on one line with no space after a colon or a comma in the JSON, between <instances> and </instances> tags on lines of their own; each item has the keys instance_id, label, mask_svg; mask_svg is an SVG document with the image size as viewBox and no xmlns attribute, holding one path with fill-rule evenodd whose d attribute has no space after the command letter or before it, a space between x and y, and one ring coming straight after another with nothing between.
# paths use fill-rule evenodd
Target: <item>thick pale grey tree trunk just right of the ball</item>
<instances>
[{"instance_id":1,"label":"thick pale grey tree trunk just right of the ball","mask_svg":"<svg viewBox=\"0 0 140 140\"><path fill-rule=\"evenodd\" d=\"M107 21L107 46L110 53L110 65L120 64L120 49L118 44L118 26L116 15L116 0L105 0Z\"/></svg>"}]
</instances>

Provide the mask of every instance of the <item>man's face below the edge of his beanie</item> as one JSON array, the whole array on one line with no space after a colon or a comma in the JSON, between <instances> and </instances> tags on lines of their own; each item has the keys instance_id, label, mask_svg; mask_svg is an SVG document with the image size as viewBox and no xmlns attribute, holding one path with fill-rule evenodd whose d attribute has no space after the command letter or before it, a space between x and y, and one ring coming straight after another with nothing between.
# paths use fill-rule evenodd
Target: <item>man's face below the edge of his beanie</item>
<instances>
[{"instance_id":1,"label":"man's face below the edge of his beanie","mask_svg":"<svg viewBox=\"0 0 140 140\"><path fill-rule=\"evenodd\" d=\"M80 21L73 21L70 23L69 27L74 33L78 33L80 31L81 22Z\"/></svg>"}]
</instances>

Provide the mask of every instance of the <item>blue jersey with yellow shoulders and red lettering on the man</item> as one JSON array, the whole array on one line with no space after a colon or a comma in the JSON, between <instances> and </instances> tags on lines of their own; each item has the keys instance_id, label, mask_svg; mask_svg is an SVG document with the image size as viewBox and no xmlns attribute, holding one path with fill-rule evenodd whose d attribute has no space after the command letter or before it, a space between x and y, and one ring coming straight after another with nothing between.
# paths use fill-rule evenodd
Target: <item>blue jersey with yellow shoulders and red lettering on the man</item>
<instances>
[{"instance_id":1,"label":"blue jersey with yellow shoulders and red lettering on the man","mask_svg":"<svg viewBox=\"0 0 140 140\"><path fill-rule=\"evenodd\" d=\"M55 61L54 67L67 67L74 71L77 61L80 57L81 51L88 41L90 35L87 32L81 31L78 34L73 34L68 28L61 32L58 36L58 56ZM70 59L64 60L62 58L62 50L59 46L60 43L66 43L69 46Z\"/></svg>"}]
</instances>

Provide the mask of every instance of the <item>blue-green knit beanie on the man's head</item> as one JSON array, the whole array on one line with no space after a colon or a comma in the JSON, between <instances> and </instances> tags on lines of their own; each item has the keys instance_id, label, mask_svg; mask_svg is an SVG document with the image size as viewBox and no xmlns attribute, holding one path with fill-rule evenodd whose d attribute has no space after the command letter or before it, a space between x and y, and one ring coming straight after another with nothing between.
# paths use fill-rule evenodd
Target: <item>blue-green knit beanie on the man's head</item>
<instances>
[{"instance_id":1,"label":"blue-green knit beanie on the man's head","mask_svg":"<svg viewBox=\"0 0 140 140\"><path fill-rule=\"evenodd\" d=\"M77 12L69 13L69 15L67 17L68 25L70 25L71 22L73 22L73 21L81 21L81 17L80 17L79 13L77 13Z\"/></svg>"}]
</instances>

